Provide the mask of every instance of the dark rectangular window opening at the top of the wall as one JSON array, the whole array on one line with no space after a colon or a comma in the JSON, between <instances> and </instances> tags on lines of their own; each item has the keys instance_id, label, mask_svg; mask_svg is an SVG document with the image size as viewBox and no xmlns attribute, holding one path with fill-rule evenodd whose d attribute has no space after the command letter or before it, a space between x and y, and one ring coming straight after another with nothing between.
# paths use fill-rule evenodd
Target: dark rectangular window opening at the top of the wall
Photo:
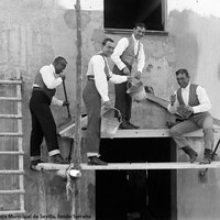
<instances>
[{"instance_id":1,"label":"dark rectangular window opening at the top of the wall","mask_svg":"<svg viewBox=\"0 0 220 220\"><path fill-rule=\"evenodd\" d=\"M165 0L103 0L105 29L133 29L144 22L146 30L165 31Z\"/></svg>"}]
</instances>

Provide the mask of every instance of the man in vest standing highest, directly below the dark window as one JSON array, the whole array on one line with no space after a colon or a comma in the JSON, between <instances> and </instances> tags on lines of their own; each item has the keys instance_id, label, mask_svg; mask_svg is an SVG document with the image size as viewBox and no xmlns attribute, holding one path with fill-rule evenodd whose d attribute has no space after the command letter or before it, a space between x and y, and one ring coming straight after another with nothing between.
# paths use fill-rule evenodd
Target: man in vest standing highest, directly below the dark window
<instances>
[{"instance_id":1,"label":"man in vest standing highest, directly below the dark window","mask_svg":"<svg viewBox=\"0 0 220 220\"><path fill-rule=\"evenodd\" d=\"M134 74L136 79L141 79L141 74L145 64L145 55L143 44L140 40L145 33L145 24L136 23L133 30L133 34L130 37L122 37L111 55L111 59L114 63L113 74L117 75L131 75L131 72L138 70ZM138 69L132 69L136 65ZM131 123L131 108L132 98L127 94L128 82L116 85L116 108L120 110L123 122L120 124L120 129L139 129L139 127Z\"/></svg>"}]
</instances>

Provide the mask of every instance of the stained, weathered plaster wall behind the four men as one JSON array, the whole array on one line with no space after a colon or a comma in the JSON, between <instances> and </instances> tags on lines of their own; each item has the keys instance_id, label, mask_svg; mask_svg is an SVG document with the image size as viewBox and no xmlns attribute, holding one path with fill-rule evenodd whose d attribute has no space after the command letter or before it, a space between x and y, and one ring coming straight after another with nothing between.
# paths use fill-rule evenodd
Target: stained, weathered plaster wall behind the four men
<instances>
[{"instance_id":1,"label":"stained, weathered plaster wall behind the four men","mask_svg":"<svg viewBox=\"0 0 220 220\"><path fill-rule=\"evenodd\" d=\"M82 0L82 75L85 75L90 56L98 52L106 36L103 31L103 2L101 0ZM219 117L220 97L220 20L218 1L167 0L168 35L146 35L143 38L146 64L143 81L154 88L155 95L168 99L177 88L175 70L187 68L191 81L201 84L208 91L212 102L211 113ZM25 208L28 213L41 213L38 204L38 174L29 169L29 136L31 118L29 99L31 86L36 70L53 58L62 55L68 62L67 90L70 110L75 112L75 76L76 76L76 12L72 10L73 1L62 0L7 0L0 1L0 78L15 76L20 68L23 84L23 132L25 151ZM118 41L122 35L108 35ZM113 87L111 87L113 97ZM64 99L62 87L57 97ZM146 109L146 112L143 109ZM153 107L155 109L156 107ZM84 109L85 110L85 109ZM133 119L143 128L164 128L166 114L161 110L134 103ZM53 107L57 123L67 117L66 109ZM151 121L163 120L157 123ZM141 118L140 118L141 114ZM147 119L147 114L151 117ZM62 116L62 117L61 117ZM144 118L144 123L142 118ZM201 142L196 144L202 153ZM179 154L182 160L182 154ZM183 160L186 160L185 157ZM66 183L51 174L44 174L46 188L46 213L70 213L72 205L66 199ZM197 183L196 170L178 173L178 219L215 219L220 213L219 172L209 172L206 185ZM187 182L184 179L188 179ZM187 184L186 184L187 183ZM189 188L194 191L190 191ZM183 196L182 196L183 195ZM197 199L200 198L200 199ZM210 202L210 200L212 202ZM94 206L91 206L94 207ZM45 208L45 207L44 207ZM45 210L44 210L45 211Z\"/></svg>"}]
</instances>

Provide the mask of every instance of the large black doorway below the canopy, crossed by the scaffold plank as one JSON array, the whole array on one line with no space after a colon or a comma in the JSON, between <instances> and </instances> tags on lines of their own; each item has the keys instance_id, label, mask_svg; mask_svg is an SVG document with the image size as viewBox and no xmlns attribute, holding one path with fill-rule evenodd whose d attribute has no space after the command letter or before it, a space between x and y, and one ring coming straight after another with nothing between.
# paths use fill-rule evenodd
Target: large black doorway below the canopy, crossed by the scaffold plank
<instances>
[{"instance_id":1,"label":"large black doorway below the canopy, crossed by the scaffold plank","mask_svg":"<svg viewBox=\"0 0 220 220\"><path fill-rule=\"evenodd\" d=\"M170 138L102 139L108 163L175 162ZM176 170L97 170L97 220L176 219Z\"/></svg>"}]
</instances>

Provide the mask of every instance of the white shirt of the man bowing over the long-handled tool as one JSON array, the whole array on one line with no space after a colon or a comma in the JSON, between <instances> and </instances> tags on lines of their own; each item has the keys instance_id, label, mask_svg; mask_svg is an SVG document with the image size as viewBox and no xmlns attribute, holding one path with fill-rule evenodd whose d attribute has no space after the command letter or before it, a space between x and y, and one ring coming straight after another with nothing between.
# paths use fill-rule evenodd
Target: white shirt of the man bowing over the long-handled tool
<instances>
[{"instance_id":1,"label":"white shirt of the man bowing over the long-handled tool","mask_svg":"<svg viewBox=\"0 0 220 220\"><path fill-rule=\"evenodd\" d=\"M58 77L58 75L56 75L53 64L43 66L40 69L40 74L42 75L42 79L48 89L55 89L63 82L63 79ZM38 85L33 85L33 86L38 87ZM63 106L63 102L64 101L57 99L56 97L52 98L52 105Z\"/></svg>"}]
</instances>

